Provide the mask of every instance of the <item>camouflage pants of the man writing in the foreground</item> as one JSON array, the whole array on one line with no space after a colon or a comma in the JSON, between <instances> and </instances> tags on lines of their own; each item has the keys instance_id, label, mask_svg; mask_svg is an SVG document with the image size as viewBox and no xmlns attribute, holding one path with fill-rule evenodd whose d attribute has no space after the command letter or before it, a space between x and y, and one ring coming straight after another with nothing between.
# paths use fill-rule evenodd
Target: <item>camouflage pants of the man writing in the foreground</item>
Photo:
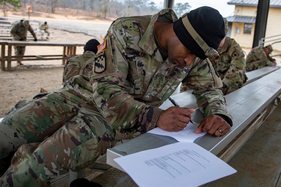
<instances>
[{"instance_id":1,"label":"camouflage pants of the man writing in the foreground","mask_svg":"<svg viewBox=\"0 0 281 187\"><path fill-rule=\"evenodd\" d=\"M87 97L64 87L16 104L0 122L0 158L17 150L0 186L49 186L92 164L117 140Z\"/></svg>"}]
</instances>

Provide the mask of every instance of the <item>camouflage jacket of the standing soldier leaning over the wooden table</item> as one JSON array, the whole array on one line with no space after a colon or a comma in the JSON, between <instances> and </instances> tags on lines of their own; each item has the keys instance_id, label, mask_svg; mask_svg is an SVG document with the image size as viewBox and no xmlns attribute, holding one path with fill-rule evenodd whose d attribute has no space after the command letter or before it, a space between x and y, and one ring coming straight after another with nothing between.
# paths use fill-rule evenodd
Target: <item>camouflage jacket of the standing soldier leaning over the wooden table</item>
<instances>
[{"instance_id":1,"label":"camouflage jacket of the standing soldier leaning over the wooden table","mask_svg":"<svg viewBox=\"0 0 281 187\"><path fill-rule=\"evenodd\" d=\"M12 23L10 33L14 40L22 39L24 41L26 40L27 31L30 31L32 36L36 38L36 35L30 25L28 27L24 27L22 24L20 24L17 21Z\"/></svg>"}]
</instances>

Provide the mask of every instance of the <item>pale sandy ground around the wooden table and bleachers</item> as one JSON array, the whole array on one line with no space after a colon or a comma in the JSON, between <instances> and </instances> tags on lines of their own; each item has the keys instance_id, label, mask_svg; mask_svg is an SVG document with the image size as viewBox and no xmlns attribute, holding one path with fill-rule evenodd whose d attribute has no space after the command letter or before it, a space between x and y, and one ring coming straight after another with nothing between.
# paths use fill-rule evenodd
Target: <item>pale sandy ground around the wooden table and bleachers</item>
<instances>
[{"instance_id":1,"label":"pale sandy ground around the wooden table and bleachers","mask_svg":"<svg viewBox=\"0 0 281 187\"><path fill-rule=\"evenodd\" d=\"M22 17L19 15L9 16ZM47 15L52 19L72 20L81 19L77 17L64 17L61 15ZM42 18L42 15L41 17ZM87 21L87 20L85 20ZM93 21L93 20L91 20ZM101 20L94 20L100 22ZM103 20L104 22L104 20ZM109 23L112 20L108 20ZM70 33L59 29L49 29L51 32L51 41L64 41L85 44L88 40L93 39L92 36L83 33ZM98 38L96 38L98 39ZM62 47L26 47L25 55L47 55L62 54ZM250 49L243 49L248 54ZM76 54L82 54L83 47L78 47ZM12 52L12 54L14 54ZM280 57L280 56L279 56ZM61 60L46 61L22 61L23 66L16 66L16 62L12 62L11 71L0 70L0 118L19 101L32 99L34 95L40 92L40 87L47 91L55 91L62 87L63 65ZM278 65L281 65L280 58Z\"/></svg>"}]
</instances>

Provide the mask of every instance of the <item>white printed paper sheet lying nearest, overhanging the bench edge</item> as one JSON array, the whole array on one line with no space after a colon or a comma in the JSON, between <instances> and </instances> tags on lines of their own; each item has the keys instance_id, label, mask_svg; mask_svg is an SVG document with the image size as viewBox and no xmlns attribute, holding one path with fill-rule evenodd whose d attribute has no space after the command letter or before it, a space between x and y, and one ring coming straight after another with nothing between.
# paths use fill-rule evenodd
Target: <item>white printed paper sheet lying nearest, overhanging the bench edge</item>
<instances>
[{"instance_id":1,"label":"white printed paper sheet lying nearest, overhanging the bench edge","mask_svg":"<svg viewBox=\"0 0 281 187\"><path fill-rule=\"evenodd\" d=\"M114 159L140 187L200 186L237 172L193 142L178 142Z\"/></svg>"}]
</instances>

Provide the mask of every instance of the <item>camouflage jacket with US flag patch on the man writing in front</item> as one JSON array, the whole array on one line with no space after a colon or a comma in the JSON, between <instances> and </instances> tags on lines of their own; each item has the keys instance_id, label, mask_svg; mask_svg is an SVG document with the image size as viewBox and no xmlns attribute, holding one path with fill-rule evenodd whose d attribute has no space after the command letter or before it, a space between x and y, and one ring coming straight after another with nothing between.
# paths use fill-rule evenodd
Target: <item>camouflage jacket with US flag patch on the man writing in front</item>
<instances>
[{"instance_id":1,"label":"camouflage jacket with US flag patch on the man writing in front","mask_svg":"<svg viewBox=\"0 0 281 187\"><path fill-rule=\"evenodd\" d=\"M225 98L217 89L222 86L221 80L210 61L197 60L178 67L162 59L153 36L159 16L169 22L177 20L169 8L152 16L115 20L99 47L92 77L74 76L66 86L92 99L96 108L91 110L101 112L116 129L115 138L119 140L153 129L162 112L158 107L181 81L194 88L205 116L223 114L232 125Z\"/></svg>"}]
</instances>

